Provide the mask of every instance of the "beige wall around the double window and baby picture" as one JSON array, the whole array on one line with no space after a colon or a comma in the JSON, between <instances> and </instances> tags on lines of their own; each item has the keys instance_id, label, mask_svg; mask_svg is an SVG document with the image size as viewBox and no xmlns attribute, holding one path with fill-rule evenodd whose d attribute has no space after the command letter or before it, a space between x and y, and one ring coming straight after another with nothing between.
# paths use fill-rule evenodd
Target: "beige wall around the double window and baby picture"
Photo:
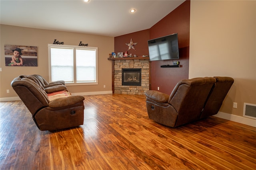
<instances>
[{"instance_id":1,"label":"beige wall around the double window and baby picture","mask_svg":"<svg viewBox=\"0 0 256 170\"><path fill-rule=\"evenodd\" d=\"M0 25L0 37L0 67L2 68L2 72L0 72L0 98L17 96L10 83L13 78L20 74L40 74L46 80L49 79L48 44L52 44L54 39L64 42L65 45L79 45L82 41L82 43L88 43L90 47L98 47L98 85L68 86L69 92L105 92L112 90L112 64L107 58L108 54L114 51L114 37L10 25ZM5 66L5 44L38 47L38 66ZM106 85L106 88L103 88L104 85ZM10 90L10 93L6 93L7 89Z\"/></svg>"}]
</instances>

